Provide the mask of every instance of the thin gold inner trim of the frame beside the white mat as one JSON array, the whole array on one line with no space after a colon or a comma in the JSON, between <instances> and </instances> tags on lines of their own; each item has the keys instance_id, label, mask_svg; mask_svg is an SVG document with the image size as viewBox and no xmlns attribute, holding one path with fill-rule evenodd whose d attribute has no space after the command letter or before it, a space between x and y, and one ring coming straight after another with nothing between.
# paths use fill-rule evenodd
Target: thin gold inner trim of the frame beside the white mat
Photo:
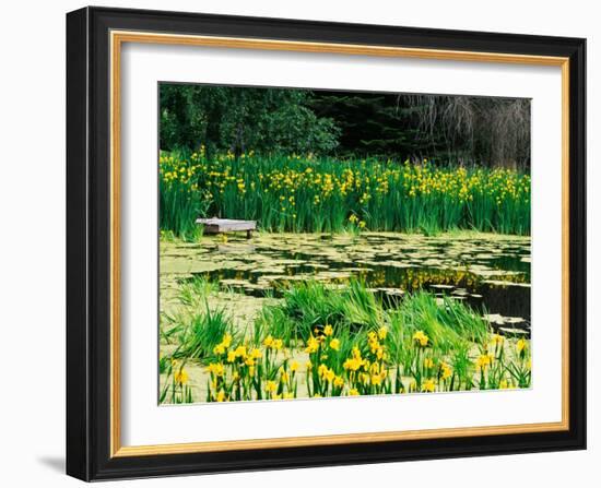
<instances>
[{"instance_id":1,"label":"thin gold inner trim of the frame beside the white mat","mask_svg":"<svg viewBox=\"0 0 601 488\"><path fill-rule=\"evenodd\" d=\"M120 422L120 55L123 43L169 44L235 49L285 50L353 56L480 61L562 68L562 420L486 427L362 432L157 445L121 445ZM182 454L232 450L334 445L469 436L496 436L569 429L569 59L550 56L417 49L349 44L305 43L234 37L110 32L110 457Z\"/></svg>"}]
</instances>

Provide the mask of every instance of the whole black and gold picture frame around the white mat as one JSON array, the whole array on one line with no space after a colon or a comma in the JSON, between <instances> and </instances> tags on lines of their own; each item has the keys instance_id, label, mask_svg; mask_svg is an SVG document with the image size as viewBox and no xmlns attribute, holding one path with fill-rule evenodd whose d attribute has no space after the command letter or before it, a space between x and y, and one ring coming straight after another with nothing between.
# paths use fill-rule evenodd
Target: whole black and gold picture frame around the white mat
<instances>
[{"instance_id":1,"label":"whole black and gold picture frame around the white mat","mask_svg":"<svg viewBox=\"0 0 601 488\"><path fill-rule=\"evenodd\" d=\"M562 79L562 415L491 425L123 445L121 49L556 67ZM67 15L67 473L83 480L586 448L586 40L517 34L84 8ZM544 181L544 178L542 179Z\"/></svg>"}]
</instances>

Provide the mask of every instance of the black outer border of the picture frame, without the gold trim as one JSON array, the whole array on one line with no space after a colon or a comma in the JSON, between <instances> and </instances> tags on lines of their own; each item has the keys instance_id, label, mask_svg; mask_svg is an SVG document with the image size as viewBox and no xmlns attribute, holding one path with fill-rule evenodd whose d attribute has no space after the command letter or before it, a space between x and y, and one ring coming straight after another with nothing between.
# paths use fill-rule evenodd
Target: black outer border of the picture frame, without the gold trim
<instances>
[{"instance_id":1,"label":"black outer border of the picture frame, without the gold trim","mask_svg":"<svg viewBox=\"0 0 601 488\"><path fill-rule=\"evenodd\" d=\"M111 29L569 58L569 429L110 457ZM586 39L84 8L67 14L67 474L83 480L586 449Z\"/></svg>"}]
</instances>

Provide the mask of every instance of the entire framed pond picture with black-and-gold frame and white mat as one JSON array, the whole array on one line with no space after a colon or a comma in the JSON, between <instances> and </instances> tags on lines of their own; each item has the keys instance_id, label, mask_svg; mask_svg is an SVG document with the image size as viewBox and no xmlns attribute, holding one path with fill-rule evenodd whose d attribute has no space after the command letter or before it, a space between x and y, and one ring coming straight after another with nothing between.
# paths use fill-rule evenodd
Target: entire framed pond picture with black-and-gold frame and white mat
<instances>
[{"instance_id":1,"label":"entire framed pond picture with black-and-gold frame and white mat","mask_svg":"<svg viewBox=\"0 0 601 488\"><path fill-rule=\"evenodd\" d=\"M68 474L585 449L585 47L69 13Z\"/></svg>"}]
</instances>

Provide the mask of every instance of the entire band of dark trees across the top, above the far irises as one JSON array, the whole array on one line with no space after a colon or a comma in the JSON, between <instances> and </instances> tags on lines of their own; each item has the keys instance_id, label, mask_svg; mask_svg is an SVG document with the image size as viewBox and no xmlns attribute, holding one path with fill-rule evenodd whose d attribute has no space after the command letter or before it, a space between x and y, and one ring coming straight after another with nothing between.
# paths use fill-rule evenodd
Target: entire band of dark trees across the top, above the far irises
<instances>
[{"instance_id":1,"label":"entire band of dark trees across the top, above the far irises","mask_svg":"<svg viewBox=\"0 0 601 488\"><path fill-rule=\"evenodd\" d=\"M530 100L162 84L161 148L528 168Z\"/></svg>"}]
</instances>

